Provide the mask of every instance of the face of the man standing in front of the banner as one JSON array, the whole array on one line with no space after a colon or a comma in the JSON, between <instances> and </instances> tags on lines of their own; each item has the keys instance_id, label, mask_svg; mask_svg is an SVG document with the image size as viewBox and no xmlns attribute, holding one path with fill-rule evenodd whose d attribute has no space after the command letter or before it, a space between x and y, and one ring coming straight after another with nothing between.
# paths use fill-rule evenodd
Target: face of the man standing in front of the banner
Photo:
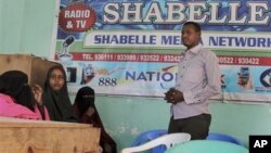
<instances>
[{"instance_id":1,"label":"face of the man standing in front of the banner","mask_svg":"<svg viewBox=\"0 0 271 153\"><path fill-rule=\"evenodd\" d=\"M186 25L182 28L182 43L188 49L195 47L201 39L201 31L196 31L193 25Z\"/></svg>"}]
</instances>

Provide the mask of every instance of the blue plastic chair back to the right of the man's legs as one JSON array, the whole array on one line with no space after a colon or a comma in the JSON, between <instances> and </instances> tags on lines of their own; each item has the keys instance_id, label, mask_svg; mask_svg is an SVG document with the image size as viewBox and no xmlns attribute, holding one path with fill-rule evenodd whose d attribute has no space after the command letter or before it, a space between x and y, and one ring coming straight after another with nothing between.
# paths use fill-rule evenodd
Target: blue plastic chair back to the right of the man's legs
<instances>
[{"instance_id":1,"label":"blue plastic chair back to the right of the man's legs","mask_svg":"<svg viewBox=\"0 0 271 153\"><path fill-rule=\"evenodd\" d=\"M230 135L225 135L225 133L210 132L206 139L207 140L227 141L227 142L231 142L231 143L244 146L242 141L240 141L238 139L236 139Z\"/></svg>"}]
</instances>

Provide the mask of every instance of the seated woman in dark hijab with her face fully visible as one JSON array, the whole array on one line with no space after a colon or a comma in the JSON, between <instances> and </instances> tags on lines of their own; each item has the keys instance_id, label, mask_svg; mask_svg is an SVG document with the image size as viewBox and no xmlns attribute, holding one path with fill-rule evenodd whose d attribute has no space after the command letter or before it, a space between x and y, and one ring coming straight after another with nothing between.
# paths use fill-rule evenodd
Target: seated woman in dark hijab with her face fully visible
<instances>
[{"instance_id":1,"label":"seated woman in dark hijab with her face fully visible","mask_svg":"<svg viewBox=\"0 0 271 153\"><path fill-rule=\"evenodd\" d=\"M66 74L62 65L52 66L48 71L43 101L51 120L78 123L68 97Z\"/></svg>"}]
</instances>

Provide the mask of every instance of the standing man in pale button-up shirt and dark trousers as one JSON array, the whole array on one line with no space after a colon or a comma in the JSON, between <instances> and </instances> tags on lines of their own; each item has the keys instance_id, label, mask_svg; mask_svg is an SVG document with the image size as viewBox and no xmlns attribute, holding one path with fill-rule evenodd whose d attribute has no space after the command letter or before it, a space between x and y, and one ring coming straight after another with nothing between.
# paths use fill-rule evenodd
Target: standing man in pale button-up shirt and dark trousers
<instances>
[{"instance_id":1,"label":"standing man in pale button-up shirt and dark trousers","mask_svg":"<svg viewBox=\"0 0 271 153\"><path fill-rule=\"evenodd\" d=\"M188 132L191 139L206 139L211 116L208 99L219 94L220 69L216 54L204 49L201 26L188 22L182 28L182 43L188 48L181 53L175 88L165 100L171 103L168 132Z\"/></svg>"}]
</instances>

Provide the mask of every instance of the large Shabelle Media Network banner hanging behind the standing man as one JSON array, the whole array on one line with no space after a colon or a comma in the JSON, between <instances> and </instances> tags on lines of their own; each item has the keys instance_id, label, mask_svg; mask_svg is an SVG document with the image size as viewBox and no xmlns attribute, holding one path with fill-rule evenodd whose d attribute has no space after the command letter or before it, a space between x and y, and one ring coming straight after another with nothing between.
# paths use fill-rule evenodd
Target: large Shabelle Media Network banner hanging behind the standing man
<instances>
[{"instance_id":1,"label":"large Shabelle Media Network banner hanging behind the standing man","mask_svg":"<svg viewBox=\"0 0 271 153\"><path fill-rule=\"evenodd\" d=\"M214 99L271 102L270 4L61 0L55 59L67 71L70 92L90 86L96 93L164 97L185 50L182 25L194 21L204 47L219 56L223 92Z\"/></svg>"}]
</instances>

